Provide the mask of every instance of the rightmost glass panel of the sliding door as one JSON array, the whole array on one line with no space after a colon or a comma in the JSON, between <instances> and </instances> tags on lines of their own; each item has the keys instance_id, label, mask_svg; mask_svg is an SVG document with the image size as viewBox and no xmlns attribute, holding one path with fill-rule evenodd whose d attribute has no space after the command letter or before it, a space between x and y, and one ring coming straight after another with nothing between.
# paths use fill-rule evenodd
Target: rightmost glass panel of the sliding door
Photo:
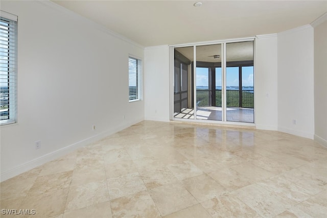
<instances>
[{"instance_id":1,"label":"rightmost glass panel of the sliding door","mask_svg":"<svg viewBox=\"0 0 327 218\"><path fill-rule=\"evenodd\" d=\"M226 43L226 120L254 123L253 41Z\"/></svg>"}]
</instances>

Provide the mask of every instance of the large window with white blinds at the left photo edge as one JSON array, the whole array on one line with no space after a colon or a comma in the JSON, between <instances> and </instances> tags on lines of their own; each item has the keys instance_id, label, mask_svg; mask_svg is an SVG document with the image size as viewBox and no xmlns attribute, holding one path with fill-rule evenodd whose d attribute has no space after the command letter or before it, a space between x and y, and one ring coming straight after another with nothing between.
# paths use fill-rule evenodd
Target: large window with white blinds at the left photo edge
<instances>
[{"instance_id":1,"label":"large window with white blinds at the left photo edge","mask_svg":"<svg viewBox=\"0 0 327 218\"><path fill-rule=\"evenodd\" d=\"M17 117L17 16L0 11L0 125Z\"/></svg>"}]
</instances>

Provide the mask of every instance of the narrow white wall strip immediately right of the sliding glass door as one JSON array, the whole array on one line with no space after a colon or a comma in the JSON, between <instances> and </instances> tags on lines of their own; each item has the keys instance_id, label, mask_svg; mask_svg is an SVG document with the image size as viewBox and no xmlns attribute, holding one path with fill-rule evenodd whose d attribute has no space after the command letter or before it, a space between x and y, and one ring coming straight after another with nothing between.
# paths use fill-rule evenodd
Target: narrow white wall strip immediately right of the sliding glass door
<instances>
[{"instance_id":1,"label":"narrow white wall strip immediately right of the sliding glass door","mask_svg":"<svg viewBox=\"0 0 327 218\"><path fill-rule=\"evenodd\" d=\"M255 126L277 130L277 34L255 39Z\"/></svg>"}]
</instances>

